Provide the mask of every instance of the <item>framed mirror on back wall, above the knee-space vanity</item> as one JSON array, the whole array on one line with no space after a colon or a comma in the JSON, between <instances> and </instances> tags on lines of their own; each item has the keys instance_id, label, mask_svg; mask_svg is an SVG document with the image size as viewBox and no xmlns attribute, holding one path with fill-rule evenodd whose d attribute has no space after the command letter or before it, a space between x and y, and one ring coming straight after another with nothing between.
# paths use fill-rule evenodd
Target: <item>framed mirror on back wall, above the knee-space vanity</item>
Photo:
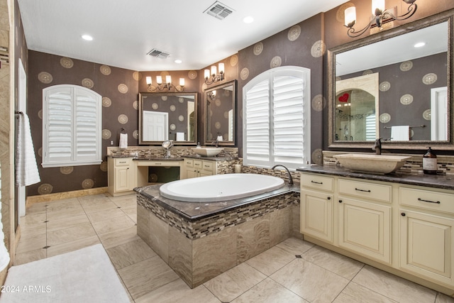
<instances>
[{"instance_id":1,"label":"framed mirror on back wall, above the knee-space vanity","mask_svg":"<svg viewBox=\"0 0 454 303\"><path fill-rule=\"evenodd\" d=\"M197 93L167 92L139 94L139 144L175 145L197 142Z\"/></svg>"}]
</instances>

